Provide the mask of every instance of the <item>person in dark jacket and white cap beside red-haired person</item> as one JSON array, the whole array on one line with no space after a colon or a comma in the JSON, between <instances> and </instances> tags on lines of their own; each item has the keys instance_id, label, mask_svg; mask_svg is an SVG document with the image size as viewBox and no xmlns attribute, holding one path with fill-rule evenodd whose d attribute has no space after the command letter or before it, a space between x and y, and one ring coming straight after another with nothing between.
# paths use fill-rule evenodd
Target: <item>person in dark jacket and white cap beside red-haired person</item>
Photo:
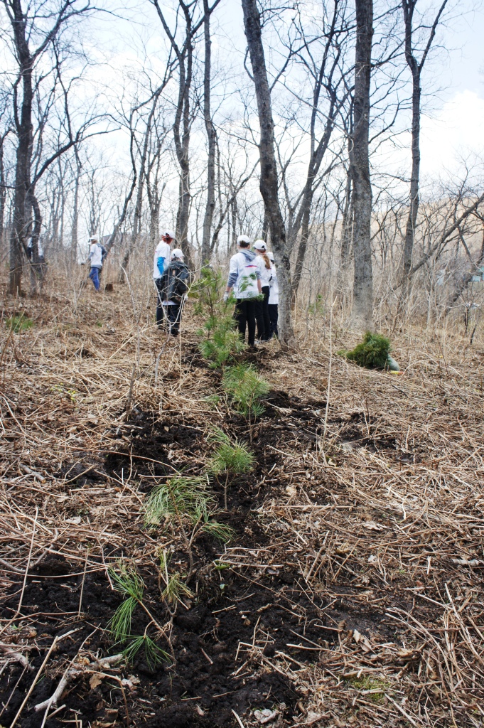
<instances>
[{"instance_id":1,"label":"person in dark jacket and white cap beside red-haired person","mask_svg":"<svg viewBox=\"0 0 484 728\"><path fill-rule=\"evenodd\" d=\"M158 305L156 306L156 325L165 326L171 336L180 333L181 312L185 294L189 290L190 272L183 261L180 248L175 248L171 261L161 278L156 279Z\"/></svg>"}]
</instances>

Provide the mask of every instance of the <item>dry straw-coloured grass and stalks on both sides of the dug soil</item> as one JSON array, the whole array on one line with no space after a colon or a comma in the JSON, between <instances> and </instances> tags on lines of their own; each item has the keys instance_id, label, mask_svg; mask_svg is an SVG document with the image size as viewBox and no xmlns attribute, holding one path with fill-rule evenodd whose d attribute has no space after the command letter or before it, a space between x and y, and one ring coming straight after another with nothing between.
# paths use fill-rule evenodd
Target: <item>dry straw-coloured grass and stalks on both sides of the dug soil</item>
<instances>
[{"instance_id":1,"label":"dry straw-coloured grass and stalks on both sides of the dug soil","mask_svg":"<svg viewBox=\"0 0 484 728\"><path fill-rule=\"evenodd\" d=\"M127 286L104 296L85 289L76 306L23 303L32 328L15 334L3 324L1 332L3 594L47 554L63 555L80 574L106 571L106 547L150 563L159 540L137 545L140 485L149 477L138 475L136 458L99 487L76 480L131 447L140 411L181 418L201 433L226 416L225 403L205 400L213 373L189 366L194 326L175 345L165 341L146 293L138 300ZM6 301L4 320L22 309ZM333 349L348 343L341 328L333 331ZM294 605L303 628L293 644L266 657L271 638L259 620L252 644L239 645L239 663L298 686L293 725L483 726L482 342L467 347L458 331L408 328L393 336L400 376L333 356L323 441L327 336L328 322L314 316L301 327L301 351L279 356L272 343L261 357L264 378L301 406L282 408L284 446L267 446L282 454L264 478L278 494L258 508L270 553L237 543L221 550L248 579L294 567L301 593L320 610L322 640L305 640ZM173 469L185 459L173 451ZM164 545L170 539L179 536ZM21 625L15 649L28 654L38 615L23 612L22 577L17 613L2 622L0 639L11 644L12 625ZM323 639L331 631L334 644ZM296 648L311 660L296 659Z\"/></svg>"}]
</instances>

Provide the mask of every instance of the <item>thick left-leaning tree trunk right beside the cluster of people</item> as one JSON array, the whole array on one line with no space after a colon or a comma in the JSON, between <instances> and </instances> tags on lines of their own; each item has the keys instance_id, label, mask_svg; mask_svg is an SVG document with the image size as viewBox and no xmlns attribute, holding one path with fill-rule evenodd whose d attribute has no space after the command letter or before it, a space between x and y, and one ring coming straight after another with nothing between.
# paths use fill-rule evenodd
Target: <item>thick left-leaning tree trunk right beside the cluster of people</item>
<instances>
[{"instance_id":1,"label":"thick left-leaning tree trunk right beside the cluster of people","mask_svg":"<svg viewBox=\"0 0 484 728\"><path fill-rule=\"evenodd\" d=\"M267 79L266 59L262 44L261 15L256 0L242 0L244 26L253 71L255 96L261 136L259 154L261 164L260 189L269 215L272 250L277 264L279 280L279 340L285 347L293 344L291 320L290 253L287 250L285 225L279 206L276 155L274 151L274 120L272 118L271 91Z\"/></svg>"}]
</instances>

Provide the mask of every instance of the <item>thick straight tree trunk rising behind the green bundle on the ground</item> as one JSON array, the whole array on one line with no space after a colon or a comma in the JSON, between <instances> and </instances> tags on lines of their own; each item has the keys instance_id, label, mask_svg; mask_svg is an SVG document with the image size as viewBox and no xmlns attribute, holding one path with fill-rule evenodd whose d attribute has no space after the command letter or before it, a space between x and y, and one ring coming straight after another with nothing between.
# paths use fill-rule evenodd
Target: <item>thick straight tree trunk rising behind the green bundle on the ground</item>
<instances>
[{"instance_id":1,"label":"thick straight tree trunk rising behind the green bundle on the ground","mask_svg":"<svg viewBox=\"0 0 484 728\"><path fill-rule=\"evenodd\" d=\"M371 183L368 158L370 122L373 0L356 0L353 134L350 165L353 181L354 282L352 325L373 328L373 271L371 265Z\"/></svg>"}]
</instances>

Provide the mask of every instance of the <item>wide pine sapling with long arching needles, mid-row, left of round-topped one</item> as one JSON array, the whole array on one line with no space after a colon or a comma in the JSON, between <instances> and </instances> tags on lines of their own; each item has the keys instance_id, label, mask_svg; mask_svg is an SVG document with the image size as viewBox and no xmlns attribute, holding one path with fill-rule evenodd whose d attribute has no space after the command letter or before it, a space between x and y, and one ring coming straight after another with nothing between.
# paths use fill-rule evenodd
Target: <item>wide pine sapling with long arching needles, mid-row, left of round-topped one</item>
<instances>
[{"instance_id":1,"label":"wide pine sapling with long arching needles, mid-row, left of round-topped one","mask_svg":"<svg viewBox=\"0 0 484 728\"><path fill-rule=\"evenodd\" d=\"M197 536L205 531L223 541L231 538L231 529L213 521L215 515L215 495L207 490L205 478L175 475L155 486L146 501L146 524L159 525L162 520L177 521L190 559L187 582L194 571L192 545ZM187 522L190 524L189 531L186 529Z\"/></svg>"}]
</instances>

